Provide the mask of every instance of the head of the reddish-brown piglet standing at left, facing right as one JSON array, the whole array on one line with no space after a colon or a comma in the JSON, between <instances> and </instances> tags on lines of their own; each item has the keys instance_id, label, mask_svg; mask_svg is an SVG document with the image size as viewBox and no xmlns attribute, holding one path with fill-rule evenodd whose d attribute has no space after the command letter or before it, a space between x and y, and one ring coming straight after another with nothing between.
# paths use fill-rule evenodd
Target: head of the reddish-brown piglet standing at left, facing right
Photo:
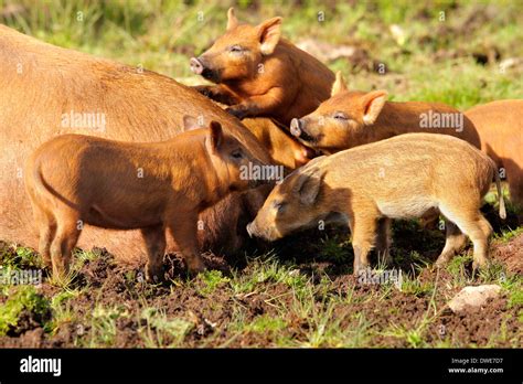
<instances>
[{"instance_id":1,"label":"head of the reddish-brown piglet standing at left, facing right","mask_svg":"<svg viewBox=\"0 0 523 384\"><path fill-rule=\"evenodd\" d=\"M202 128L196 118L184 116L184 130ZM266 180L252 178L249 170L256 167L267 167L259 161L234 136L226 134L222 125L211 121L205 135L205 151L212 161L212 167L220 185L227 185L228 191L244 191L267 183Z\"/></svg>"}]
</instances>

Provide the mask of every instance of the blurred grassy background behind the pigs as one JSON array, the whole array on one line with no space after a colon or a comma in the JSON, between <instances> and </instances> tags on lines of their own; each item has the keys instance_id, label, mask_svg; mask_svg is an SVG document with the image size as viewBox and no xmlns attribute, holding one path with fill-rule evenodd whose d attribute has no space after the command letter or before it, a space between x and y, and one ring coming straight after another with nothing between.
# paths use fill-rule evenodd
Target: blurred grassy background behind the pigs
<instances>
[{"instance_id":1,"label":"blurred grassy background behind the pigs","mask_svg":"<svg viewBox=\"0 0 523 384\"><path fill-rule=\"evenodd\" d=\"M342 71L351 88L458 108L523 95L520 0L0 0L0 22L192 85L202 79L189 57L224 32L231 6L249 23L284 17L284 36Z\"/></svg>"}]
</instances>

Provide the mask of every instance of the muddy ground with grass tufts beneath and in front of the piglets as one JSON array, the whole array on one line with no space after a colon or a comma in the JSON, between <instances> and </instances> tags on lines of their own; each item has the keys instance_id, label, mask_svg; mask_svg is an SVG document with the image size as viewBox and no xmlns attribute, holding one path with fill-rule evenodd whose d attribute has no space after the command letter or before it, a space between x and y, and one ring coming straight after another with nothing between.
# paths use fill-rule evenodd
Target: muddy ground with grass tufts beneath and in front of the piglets
<instances>
[{"instance_id":1,"label":"muddy ground with grass tufts beneath and in front of the piglets","mask_svg":"<svg viewBox=\"0 0 523 384\"><path fill-rule=\"evenodd\" d=\"M352 252L341 228L329 228L320 238L316 233L292 236L277 243L273 256L225 260L206 255L214 271L193 279L170 255L168 281L157 286L143 281L142 266L119 265L95 249L67 287L49 278L36 287L49 308L23 309L17 327L0 337L0 346L523 345L523 233L494 239L493 267L472 276L470 248L436 270L430 263L442 233L407 222L394 228L393 267L403 271L401 289L394 281L362 284L350 274ZM17 258L8 244L2 255ZM502 296L459 314L446 307L463 286L484 282L501 284ZM10 289L12 295L18 288Z\"/></svg>"}]
</instances>

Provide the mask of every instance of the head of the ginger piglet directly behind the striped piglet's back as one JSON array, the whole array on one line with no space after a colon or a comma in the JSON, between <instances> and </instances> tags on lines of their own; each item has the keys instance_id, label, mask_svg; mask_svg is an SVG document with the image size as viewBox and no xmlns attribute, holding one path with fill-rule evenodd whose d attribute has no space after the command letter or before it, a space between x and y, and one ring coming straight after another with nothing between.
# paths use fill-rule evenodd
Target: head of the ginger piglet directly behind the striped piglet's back
<instances>
[{"instance_id":1,"label":"head of the ginger piglet directly behind the striped piglet's back","mask_svg":"<svg viewBox=\"0 0 523 384\"><path fill-rule=\"evenodd\" d=\"M348 90L339 72L331 97L313 113L292 119L290 132L306 146L324 153L374 141L367 138L373 135L370 126L376 121L386 98L386 90Z\"/></svg>"}]
</instances>

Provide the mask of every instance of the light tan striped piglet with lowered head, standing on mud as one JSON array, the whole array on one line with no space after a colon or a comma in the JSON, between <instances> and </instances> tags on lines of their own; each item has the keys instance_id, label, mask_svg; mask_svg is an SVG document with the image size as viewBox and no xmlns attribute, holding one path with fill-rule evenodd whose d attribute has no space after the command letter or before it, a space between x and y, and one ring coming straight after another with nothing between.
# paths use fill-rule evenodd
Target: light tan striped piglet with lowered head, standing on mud
<instances>
[{"instance_id":1,"label":"light tan striped piglet with lowered head, standing on mud","mask_svg":"<svg viewBox=\"0 0 523 384\"><path fill-rule=\"evenodd\" d=\"M247 232L275 241L319 221L348 223L357 274L369 266L374 246L388 258L391 220L438 210L447 239L437 265L462 248L467 235L474 268L483 267L492 228L480 206L492 178L504 218L500 179L489 157L447 135L401 135L311 160L273 190Z\"/></svg>"}]
</instances>

